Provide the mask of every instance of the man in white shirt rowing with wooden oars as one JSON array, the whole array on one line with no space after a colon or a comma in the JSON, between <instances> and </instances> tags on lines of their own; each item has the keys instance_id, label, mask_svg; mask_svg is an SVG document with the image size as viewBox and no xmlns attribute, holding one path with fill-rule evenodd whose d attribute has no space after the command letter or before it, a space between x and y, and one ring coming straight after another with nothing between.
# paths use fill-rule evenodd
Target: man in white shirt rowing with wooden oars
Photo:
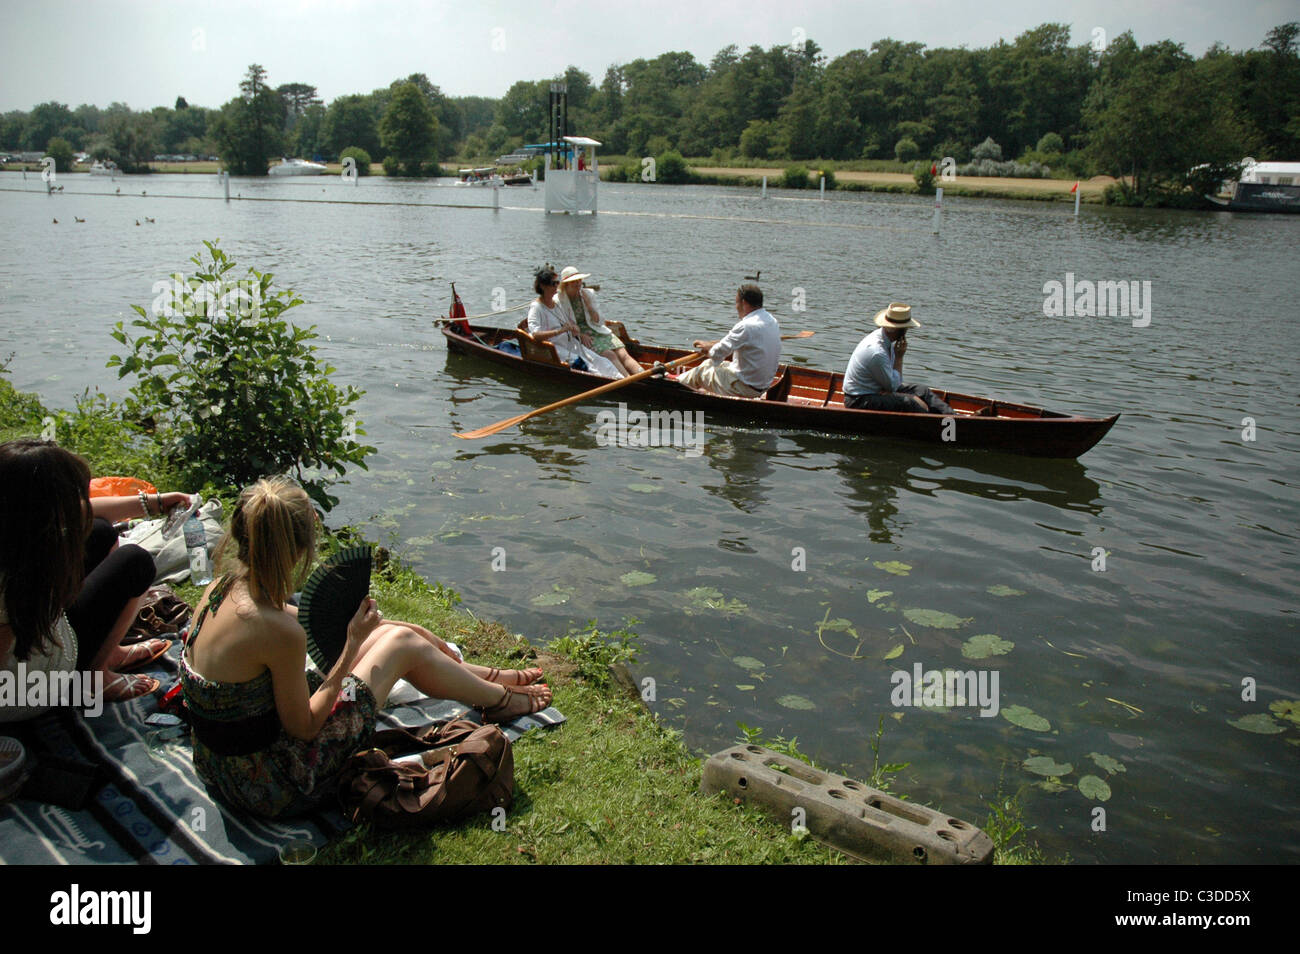
<instances>
[{"instance_id":1,"label":"man in white shirt rowing with wooden oars","mask_svg":"<svg viewBox=\"0 0 1300 954\"><path fill-rule=\"evenodd\" d=\"M757 285L741 285L736 291L736 313L740 321L725 338L694 342L696 351L707 351L708 357L677 381L731 398L758 398L767 391L781 363L781 329L763 308Z\"/></svg>"}]
</instances>

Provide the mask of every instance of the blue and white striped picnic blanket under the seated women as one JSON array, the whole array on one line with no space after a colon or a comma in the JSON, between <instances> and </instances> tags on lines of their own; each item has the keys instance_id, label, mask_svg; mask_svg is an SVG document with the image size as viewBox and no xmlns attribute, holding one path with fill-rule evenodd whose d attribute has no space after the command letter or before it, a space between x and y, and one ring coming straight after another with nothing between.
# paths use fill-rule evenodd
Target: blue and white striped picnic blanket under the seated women
<instances>
[{"instance_id":1,"label":"blue and white striped picnic blanket under the seated women","mask_svg":"<svg viewBox=\"0 0 1300 954\"><path fill-rule=\"evenodd\" d=\"M176 681L181 641L150 669L165 686ZM150 743L144 719L157 708L150 695L108 703L87 719L58 708L35 720L35 751L79 758L103 767L108 782L81 811L17 798L0 805L3 864L266 864L290 841L321 846L351 823L333 803L312 815L266 821L213 801L194 772L188 736ZM477 714L459 702L429 699L399 682L376 728L416 728ZM558 725L550 707L502 725L511 741L532 728ZM26 741L25 741L26 745Z\"/></svg>"}]
</instances>

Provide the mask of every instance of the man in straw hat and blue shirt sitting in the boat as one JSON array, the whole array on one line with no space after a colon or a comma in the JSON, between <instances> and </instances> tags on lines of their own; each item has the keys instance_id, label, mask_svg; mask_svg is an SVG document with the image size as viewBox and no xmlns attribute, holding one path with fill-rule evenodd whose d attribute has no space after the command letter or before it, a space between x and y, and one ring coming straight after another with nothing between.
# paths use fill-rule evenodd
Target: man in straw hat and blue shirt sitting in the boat
<instances>
[{"instance_id":1,"label":"man in straw hat and blue shirt sitting in the boat","mask_svg":"<svg viewBox=\"0 0 1300 954\"><path fill-rule=\"evenodd\" d=\"M875 324L876 330L858 342L844 372L844 406L867 411L953 413L924 385L902 383L907 329L920 328L911 317L911 305L890 302L876 313Z\"/></svg>"}]
</instances>

